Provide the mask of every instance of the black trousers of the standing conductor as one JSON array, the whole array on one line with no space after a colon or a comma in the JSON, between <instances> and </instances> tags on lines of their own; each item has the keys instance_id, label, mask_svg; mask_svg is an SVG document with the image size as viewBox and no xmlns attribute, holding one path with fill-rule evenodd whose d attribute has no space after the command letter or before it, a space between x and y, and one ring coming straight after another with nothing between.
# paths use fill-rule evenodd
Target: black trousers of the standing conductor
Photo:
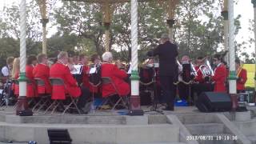
<instances>
[{"instance_id":1,"label":"black trousers of the standing conductor","mask_svg":"<svg viewBox=\"0 0 256 144\"><path fill-rule=\"evenodd\" d=\"M160 84L164 100L166 101L167 107L170 109L174 108L174 77L173 76L159 76Z\"/></svg>"}]
</instances>

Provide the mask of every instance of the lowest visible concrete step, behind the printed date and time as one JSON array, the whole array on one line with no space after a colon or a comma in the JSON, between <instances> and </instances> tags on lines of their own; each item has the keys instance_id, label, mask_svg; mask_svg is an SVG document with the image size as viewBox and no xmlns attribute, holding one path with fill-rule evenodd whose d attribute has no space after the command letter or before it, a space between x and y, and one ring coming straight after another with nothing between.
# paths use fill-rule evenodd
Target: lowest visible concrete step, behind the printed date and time
<instances>
[{"instance_id":1,"label":"lowest visible concrete step, behind the printed date and time","mask_svg":"<svg viewBox=\"0 0 256 144\"><path fill-rule=\"evenodd\" d=\"M196 135L194 135L195 137ZM205 136L205 137L203 137ZM202 134L198 135L199 144L236 144L237 137L234 134Z\"/></svg>"}]
</instances>

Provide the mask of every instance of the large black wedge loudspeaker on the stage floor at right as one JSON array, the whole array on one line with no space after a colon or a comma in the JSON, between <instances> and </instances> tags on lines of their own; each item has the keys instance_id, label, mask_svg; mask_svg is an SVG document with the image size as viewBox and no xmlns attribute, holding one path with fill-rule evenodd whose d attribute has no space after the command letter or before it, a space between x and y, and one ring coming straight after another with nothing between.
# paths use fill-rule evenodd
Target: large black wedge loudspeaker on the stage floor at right
<instances>
[{"instance_id":1,"label":"large black wedge loudspeaker on the stage floor at right","mask_svg":"<svg viewBox=\"0 0 256 144\"><path fill-rule=\"evenodd\" d=\"M230 111L232 102L229 94L218 92L203 92L196 102L201 112Z\"/></svg>"}]
</instances>

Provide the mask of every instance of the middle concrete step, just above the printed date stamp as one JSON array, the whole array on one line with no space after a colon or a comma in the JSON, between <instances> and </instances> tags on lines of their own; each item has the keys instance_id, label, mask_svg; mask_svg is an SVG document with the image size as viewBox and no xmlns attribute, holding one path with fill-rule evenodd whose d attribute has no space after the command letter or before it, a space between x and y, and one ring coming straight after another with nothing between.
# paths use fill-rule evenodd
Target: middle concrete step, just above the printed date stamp
<instances>
[{"instance_id":1,"label":"middle concrete step, just above the printed date stamp","mask_svg":"<svg viewBox=\"0 0 256 144\"><path fill-rule=\"evenodd\" d=\"M186 124L187 130L190 134L222 134L224 125L222 123L200 123L200 124Z\"/></svg>"}]
</instances>

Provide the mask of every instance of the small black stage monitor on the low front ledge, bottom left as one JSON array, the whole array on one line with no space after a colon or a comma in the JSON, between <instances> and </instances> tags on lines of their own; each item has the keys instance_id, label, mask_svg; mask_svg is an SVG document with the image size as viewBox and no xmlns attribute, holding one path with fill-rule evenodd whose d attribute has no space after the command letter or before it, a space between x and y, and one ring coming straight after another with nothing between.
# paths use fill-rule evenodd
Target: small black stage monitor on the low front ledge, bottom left
<instances>
[{"instance_id":1,"label":"small black stage monitor on the low front ledge, bottom left","mask_svg":"<svg viewBox=\"0 0 256 144\"><path fill-rule=\"evenodd\" d=\"M72 139L66 129L48 129L48 137L50 144L71 144Z\"/></svg>"}]
</instances>

